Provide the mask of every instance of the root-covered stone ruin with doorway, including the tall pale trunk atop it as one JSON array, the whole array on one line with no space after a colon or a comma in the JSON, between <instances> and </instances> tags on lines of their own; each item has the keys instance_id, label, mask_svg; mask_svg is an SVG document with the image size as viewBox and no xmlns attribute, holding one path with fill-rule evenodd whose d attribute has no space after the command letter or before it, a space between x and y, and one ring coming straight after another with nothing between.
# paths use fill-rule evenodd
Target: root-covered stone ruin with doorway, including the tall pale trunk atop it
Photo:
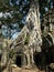
<instances>
[{"instance_id":1,"label":"root-covered stone ruin with doorway, including the tall pale trunk atop it","mask_svg":"<svg viewBox=\"0 0 54 72\"><path fill-rule=\"evenodd\" d=\"M23 27L18 38L14 41L11 40L11 43L9 40L4 40L3 59L1 56L2 66L12 63L19 66L32 66L34 65L33 54L42 51L39 7L35 3L36 1L32 2L26 17L26 25Z\"/></svg>"}]
</instances>

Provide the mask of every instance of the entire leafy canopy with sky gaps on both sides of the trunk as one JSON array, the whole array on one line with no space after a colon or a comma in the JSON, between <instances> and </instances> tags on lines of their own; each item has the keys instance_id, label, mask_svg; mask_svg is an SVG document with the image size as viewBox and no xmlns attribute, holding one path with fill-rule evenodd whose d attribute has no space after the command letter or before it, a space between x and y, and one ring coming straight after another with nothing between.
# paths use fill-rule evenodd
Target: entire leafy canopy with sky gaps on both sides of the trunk
<instances>
[{"instance_id":1,"label":"entire leafy canopy with sky gaps on both sides of the trunk","mask_svg":"<svg viewBox=\"0 0 54 72\"><path fill-rule=\"evenodd\" d=\"M50 9L54 9L54 0L37 0L40 4L41 21L43 16ZM0 0L0 29L2 25L14 30L17 23L18 30L25 24L25 19L32 0ZM17 29L17 27L15 27Z\"/></svg>"}]
</instances>

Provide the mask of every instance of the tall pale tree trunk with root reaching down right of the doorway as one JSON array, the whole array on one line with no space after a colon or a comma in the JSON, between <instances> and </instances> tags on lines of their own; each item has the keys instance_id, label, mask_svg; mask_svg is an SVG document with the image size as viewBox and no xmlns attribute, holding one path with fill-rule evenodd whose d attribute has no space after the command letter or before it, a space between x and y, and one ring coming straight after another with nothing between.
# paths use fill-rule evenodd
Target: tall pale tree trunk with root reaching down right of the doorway
<instances>
[{"instance_id":1,"label":"tall pale tree trunk with root reaching down right of the doorway","mask_svg":"<svg viewBox=\"0 0 54 72\"><path fill-rule=\"evenodd\" d=\"M34 63L33 53L36 50L37 52L41 52L41 45L42 45L42 38L41 38L41 24L40 24L40 12L39 12L39 1L34 0L31 2L31 8L29 10L28 17L26 17L26 23L30 32L30 53L28 59L29 64Z\"/></svg>"}]
</instances>

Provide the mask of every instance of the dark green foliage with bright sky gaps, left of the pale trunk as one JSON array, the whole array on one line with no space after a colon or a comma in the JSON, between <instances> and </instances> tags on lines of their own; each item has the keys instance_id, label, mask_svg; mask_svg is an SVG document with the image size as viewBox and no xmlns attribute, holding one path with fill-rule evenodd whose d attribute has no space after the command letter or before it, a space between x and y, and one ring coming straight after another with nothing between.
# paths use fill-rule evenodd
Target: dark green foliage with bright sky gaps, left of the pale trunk
<instances>
[{"instance_id":1,"label":"dark green foliage with bright sky gaps, left of the pale trunk","mask_svg":"<svg viewBox=\"0 0 54 72\"><path fill-rule=\"evenodd\" d=\"M0 21L1 21L1 24L8 27L7 31L9 31L9 29L10 29L10 32L11 32L11 30L12 30L11 24L15 24L15 23L18 23L18 25L19 25L17 31L18 30L20 31L23 28L23 25L25 23L24 17L26 17L26 14L29 12L30 2L31 2L31 0L26 0L26 1L20 0L19 4L17 4L17 0L11 0L12 4L10 4L10 0L0 1L0 12L2 12L2 14L3 14L0 18ZM7 14L7 13L9 13L9 14ZM10 33L10 35L12 33ZM8 37L6 37L6 38L8 38Z\"/></svg>"}]
</instances>

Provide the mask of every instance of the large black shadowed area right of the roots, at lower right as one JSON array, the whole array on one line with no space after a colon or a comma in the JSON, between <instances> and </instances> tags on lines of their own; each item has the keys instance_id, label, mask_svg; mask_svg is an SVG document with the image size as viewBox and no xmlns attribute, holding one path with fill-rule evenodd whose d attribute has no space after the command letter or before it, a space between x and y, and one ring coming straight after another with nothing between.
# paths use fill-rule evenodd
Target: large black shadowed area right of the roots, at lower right
<instances>
[{"instance_id":1,"label":"large black shadowed area right of the roots, at lower right","mask_svg":"<svg viewBox=\"0 0 54 72\"><path fill-rule=\"evenodd\" d=\"M54 45L52 45L47 51L34 53L35 65L40 70L45 70L46 65L54 63Z\"/></svg>"}]
</instances>

